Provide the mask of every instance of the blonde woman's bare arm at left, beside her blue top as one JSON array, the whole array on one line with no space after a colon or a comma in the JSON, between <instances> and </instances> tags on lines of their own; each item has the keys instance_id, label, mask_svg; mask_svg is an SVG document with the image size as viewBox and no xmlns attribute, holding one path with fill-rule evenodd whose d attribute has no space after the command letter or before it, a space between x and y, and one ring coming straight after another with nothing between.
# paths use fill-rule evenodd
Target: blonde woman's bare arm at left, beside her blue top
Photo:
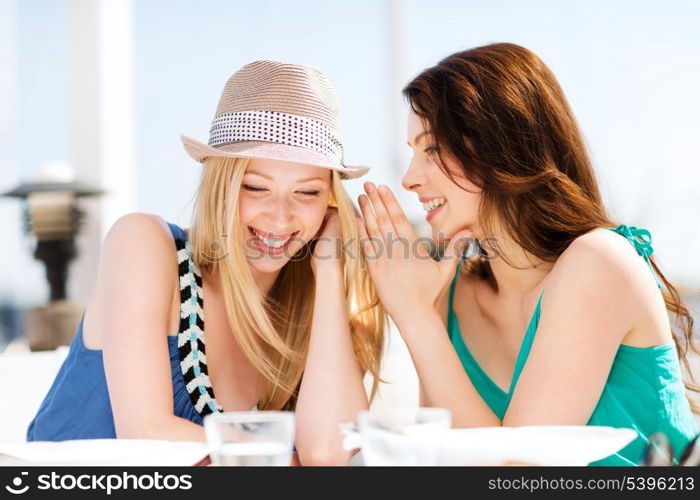
<instances>
[{"instance_id":1,"label":"blonde woman's bare arm at left, beside her blue top","mask_svg":"<svg viewBox=\"0 0 700 500\"><path fill-rule=\"evenodd\" d=\"M164 222L129 214L114 224L102 249L95 304L118 438L204 440L201 426L173 414L166 336L176 280Z\"/></svg>"}]
</instances>

